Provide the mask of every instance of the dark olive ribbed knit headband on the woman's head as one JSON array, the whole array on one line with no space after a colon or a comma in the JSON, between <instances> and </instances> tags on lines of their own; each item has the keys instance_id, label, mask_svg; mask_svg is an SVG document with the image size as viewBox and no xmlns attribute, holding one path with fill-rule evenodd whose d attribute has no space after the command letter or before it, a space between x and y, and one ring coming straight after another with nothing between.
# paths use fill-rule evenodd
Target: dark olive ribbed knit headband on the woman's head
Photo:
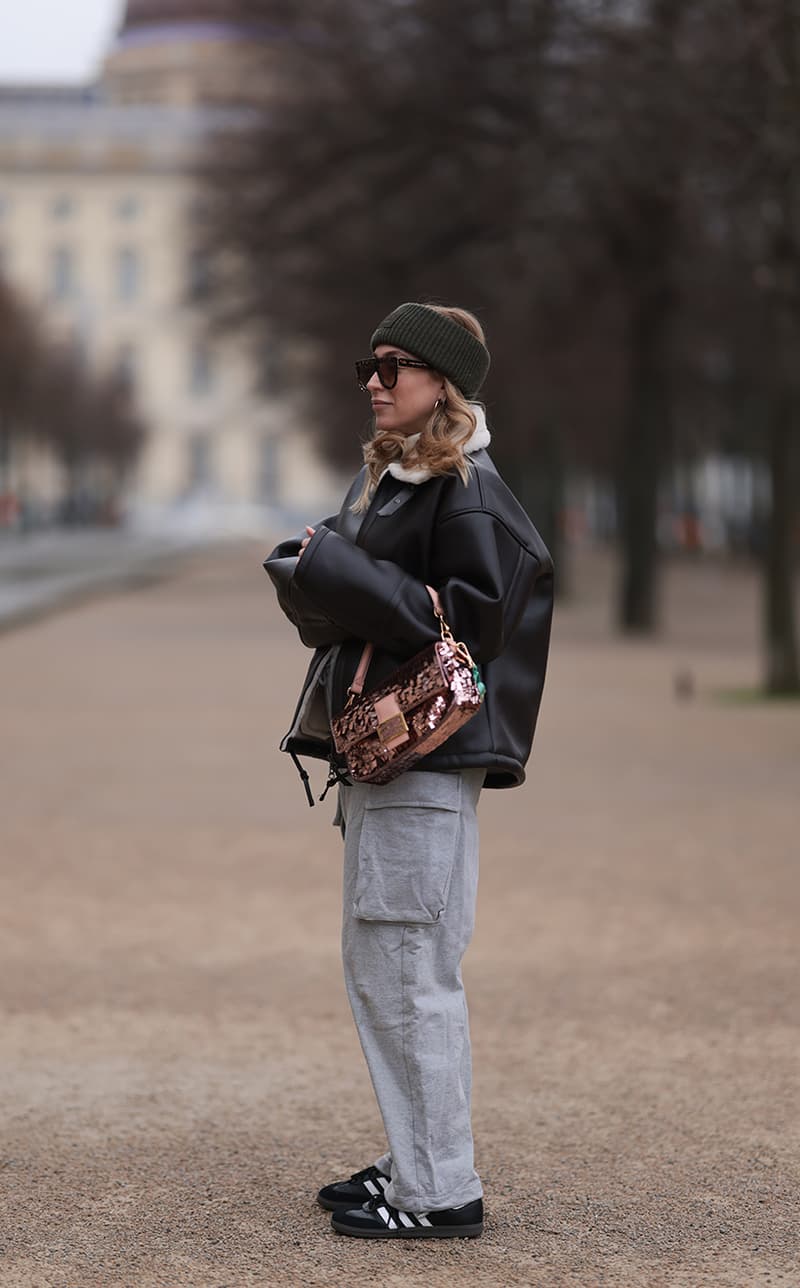
<instances>
[{"instance_id":1,"label":"dark olive ribbed knit headband on the woman's head","mask_svg":"<svg viewBox=\"0 0 800 1288\"><path fill-rule=\"evenodd\" d=\"M465 398L474 398L488 371L488 349L481 340L428 304L401 304L380 323L372 336L379 344L395 344L452 380Z\"/></svg>"}]
</instances>

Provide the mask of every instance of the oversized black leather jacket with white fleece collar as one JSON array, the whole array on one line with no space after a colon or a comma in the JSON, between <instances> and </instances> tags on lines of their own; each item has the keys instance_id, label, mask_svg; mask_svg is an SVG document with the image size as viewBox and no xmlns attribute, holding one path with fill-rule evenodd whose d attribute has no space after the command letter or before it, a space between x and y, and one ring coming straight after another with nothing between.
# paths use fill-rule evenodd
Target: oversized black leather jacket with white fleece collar
<instances>
[{"instance_id":1,"label":"oversized black leather jacket with white fleece collar","mask_svg":"<svg viewBox=\"0 0 800 1288\"><path fill-rule=\"evenodd\" d=\"M370 689L438 639L428 583L487 693L481 711L415 768L484 766L487 787L524 781L545 683L553 563L488 453L470 462L466 487L455 474L412 484L386 473L366 514L354 515L362 470L299 560L304 533L264 560L281 608L316 650L282 751L330 759L329 719L347 701L365 640L375 645Z\"/></svg>"}]
</instances>

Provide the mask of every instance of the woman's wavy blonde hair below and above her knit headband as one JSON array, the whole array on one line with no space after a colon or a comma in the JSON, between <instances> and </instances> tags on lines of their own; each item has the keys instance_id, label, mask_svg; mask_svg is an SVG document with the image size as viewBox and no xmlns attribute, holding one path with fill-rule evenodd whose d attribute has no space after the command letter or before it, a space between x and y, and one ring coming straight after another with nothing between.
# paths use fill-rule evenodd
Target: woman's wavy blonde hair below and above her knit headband
<instances>
[{"instance_id":1,"label":"woman's wavy blonde hair below and above her knit headband","mask_svg":"<svg viewBox=\"0 0 800 1288\"><path fill-rule=\"evenodd\" d=\"M450 318L451 322L457 322L477 336L481 344L486 344L483 327L473 313L444 304L430 304L429 308ZM434 475L456 473L466 484L469 457L464 446L471 438L475 425L475 415L469 401L460 389L456 389L452 380L444 377L444 399L441 406L434 407L428 424L410 451L403 453L407 434L390 429L372 431L372 437L363 446L367 475L361 495L352 505L353 513L361 514L368 507L377 482L392 461L402 460L407 469L425 469Z\"/></svg>"}]
</instances>

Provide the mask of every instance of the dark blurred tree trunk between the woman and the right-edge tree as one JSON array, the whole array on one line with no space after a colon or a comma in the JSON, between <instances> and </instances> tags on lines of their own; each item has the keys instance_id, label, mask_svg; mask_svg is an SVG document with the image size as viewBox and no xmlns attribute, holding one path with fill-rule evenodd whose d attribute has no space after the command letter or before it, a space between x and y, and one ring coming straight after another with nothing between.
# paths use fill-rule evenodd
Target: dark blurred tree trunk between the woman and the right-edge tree
<instances>
[{"instance_id":1,"label":"dark blurred tree trunk between the woman and the right-edge tree","mask_svg":"<svg viewBox=\"0 0 800 1288\"><path fill-rule=\"evenodd\" d=\"M617 469L620 576L617 621L627 634L656 629L658 475L670 429L665 379L670 309L665 295L640 301L631 327L631 376Z\"/></svg>"}]
</instances>

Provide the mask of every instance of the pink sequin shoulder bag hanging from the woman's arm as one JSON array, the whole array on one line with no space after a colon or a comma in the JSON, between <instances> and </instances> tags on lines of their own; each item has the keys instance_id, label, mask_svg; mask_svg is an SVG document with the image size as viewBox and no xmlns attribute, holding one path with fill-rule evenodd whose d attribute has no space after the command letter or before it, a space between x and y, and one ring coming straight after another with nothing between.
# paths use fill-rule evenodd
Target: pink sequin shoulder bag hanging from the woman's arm
<instances>
[{"instance_id":1,"label":"pink sequin shoulder bag hanging from the woman's arm","mask_svg":"<svg viewBox=\"0 0 800 1288\"><path fill-rule=\"evenodd\" d=\"M389 783L430 755L481 708L486 687L466 644L453 639L437 591L425 587L441 639L363 693L372 658L366 644L347 706L331 720L336 753L356 783Z\"/></svg>"}]
</instances>

